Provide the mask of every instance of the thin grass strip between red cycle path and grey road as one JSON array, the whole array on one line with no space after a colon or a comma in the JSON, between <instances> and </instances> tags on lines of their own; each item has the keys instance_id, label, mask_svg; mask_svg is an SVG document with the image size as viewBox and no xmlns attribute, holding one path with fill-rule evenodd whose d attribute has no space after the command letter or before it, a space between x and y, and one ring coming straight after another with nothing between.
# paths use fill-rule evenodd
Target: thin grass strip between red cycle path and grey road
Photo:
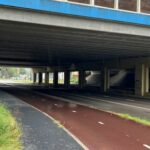
<instances>
[{"instance_id":1,"label":"thin grass strip between red cycle path and grey road","mask_svg":"<svg viewBox=\"0 0 150 150\"><path fill-rule=\"evenodd\" d=\"M121 114L121 113L115 113L115 114L117 116L123 118L123 119L131 120L131 121L134 121L136 123L140 123L142 125L150 126L150 121L149 120L141 119L141 118L138 118L138 117L133 117L129 114Z\"/></svg>"}]
</instances>

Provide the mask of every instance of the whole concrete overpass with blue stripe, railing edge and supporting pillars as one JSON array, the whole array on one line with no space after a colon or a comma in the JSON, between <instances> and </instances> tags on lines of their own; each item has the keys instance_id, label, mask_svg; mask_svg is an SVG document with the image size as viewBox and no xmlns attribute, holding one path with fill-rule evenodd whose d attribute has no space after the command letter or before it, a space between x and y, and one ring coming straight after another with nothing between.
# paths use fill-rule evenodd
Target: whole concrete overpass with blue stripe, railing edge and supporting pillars
<instances>
[{"instance_id":1,"label":"whole concrete overpass with blue stripe, railing edge and supporting pillars","mask_svg":"<svg viewBox=\"0 0 150 150\"><path fill-rule=\"evenodd\" d=\"M103 92L110 91L111 69L133 69L134 94L149 95L147 1L137 0L134 10L123 7L121 0L108 6L105 1L81 3L1 0L0 64L33 67L38 83L46 73L48 84L49 72L54 72L57 87L60 71L65 74L65 87L70 83L69 72L79 71L80 88L85 85L86 70L100 71Z\"/></svg>"}]
</instances>

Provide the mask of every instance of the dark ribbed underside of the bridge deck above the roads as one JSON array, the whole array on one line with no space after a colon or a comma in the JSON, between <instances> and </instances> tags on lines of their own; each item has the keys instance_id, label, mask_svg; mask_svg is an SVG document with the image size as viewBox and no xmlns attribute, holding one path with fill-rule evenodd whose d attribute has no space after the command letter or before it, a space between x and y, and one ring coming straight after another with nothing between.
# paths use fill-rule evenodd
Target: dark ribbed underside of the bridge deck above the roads
<instances>
[{"instance_id":1,"label":"dark ribbed underside of the bridge deck above the roads","mask_svg":"<svg viewBox=\"0 0 150 150\"><path fill-rule=\"evenodd\" d=\"M60 65L150 56L150 38L89 30L0 22L0 63Z\"/></svg>"}]
</instances>

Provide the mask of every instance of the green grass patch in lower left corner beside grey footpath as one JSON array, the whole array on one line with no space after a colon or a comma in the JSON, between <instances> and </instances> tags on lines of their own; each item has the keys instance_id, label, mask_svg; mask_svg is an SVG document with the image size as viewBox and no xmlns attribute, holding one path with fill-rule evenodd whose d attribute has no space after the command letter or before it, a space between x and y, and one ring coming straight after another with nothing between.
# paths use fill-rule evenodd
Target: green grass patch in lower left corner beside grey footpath
<instances>
[{"instance_id":1,"label":"green grass patch in lower left corner beside grey footpath","mask_svg":"<svg viewBox=\"0 0 150 150\"><path fill-rule=\"evenodd\" d=\"M22 150L21 129L6 106L0 104L0 150Z\"/></svg>"}]
</instances>

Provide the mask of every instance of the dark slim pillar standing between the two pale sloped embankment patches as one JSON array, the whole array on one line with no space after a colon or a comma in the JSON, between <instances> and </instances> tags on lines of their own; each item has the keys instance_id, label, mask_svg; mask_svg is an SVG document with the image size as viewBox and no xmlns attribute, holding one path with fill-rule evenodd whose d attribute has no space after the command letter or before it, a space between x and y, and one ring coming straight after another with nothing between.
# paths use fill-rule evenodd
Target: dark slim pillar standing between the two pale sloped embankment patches
<instances>
[{"instance_id":1,"label":"dark slim pillar standing between the two pale sloped embankment patches","mask_svg":"<svg viewBox=\"0 0 150 150\"><path fill-rule=\"evenodd\" d=\"M104 67L101 71L101 79L102 79L102 91L108 92L110 85L109 85L109 79L110 79L110 71L107 67Z\"/></svg>"}]
</instances>

